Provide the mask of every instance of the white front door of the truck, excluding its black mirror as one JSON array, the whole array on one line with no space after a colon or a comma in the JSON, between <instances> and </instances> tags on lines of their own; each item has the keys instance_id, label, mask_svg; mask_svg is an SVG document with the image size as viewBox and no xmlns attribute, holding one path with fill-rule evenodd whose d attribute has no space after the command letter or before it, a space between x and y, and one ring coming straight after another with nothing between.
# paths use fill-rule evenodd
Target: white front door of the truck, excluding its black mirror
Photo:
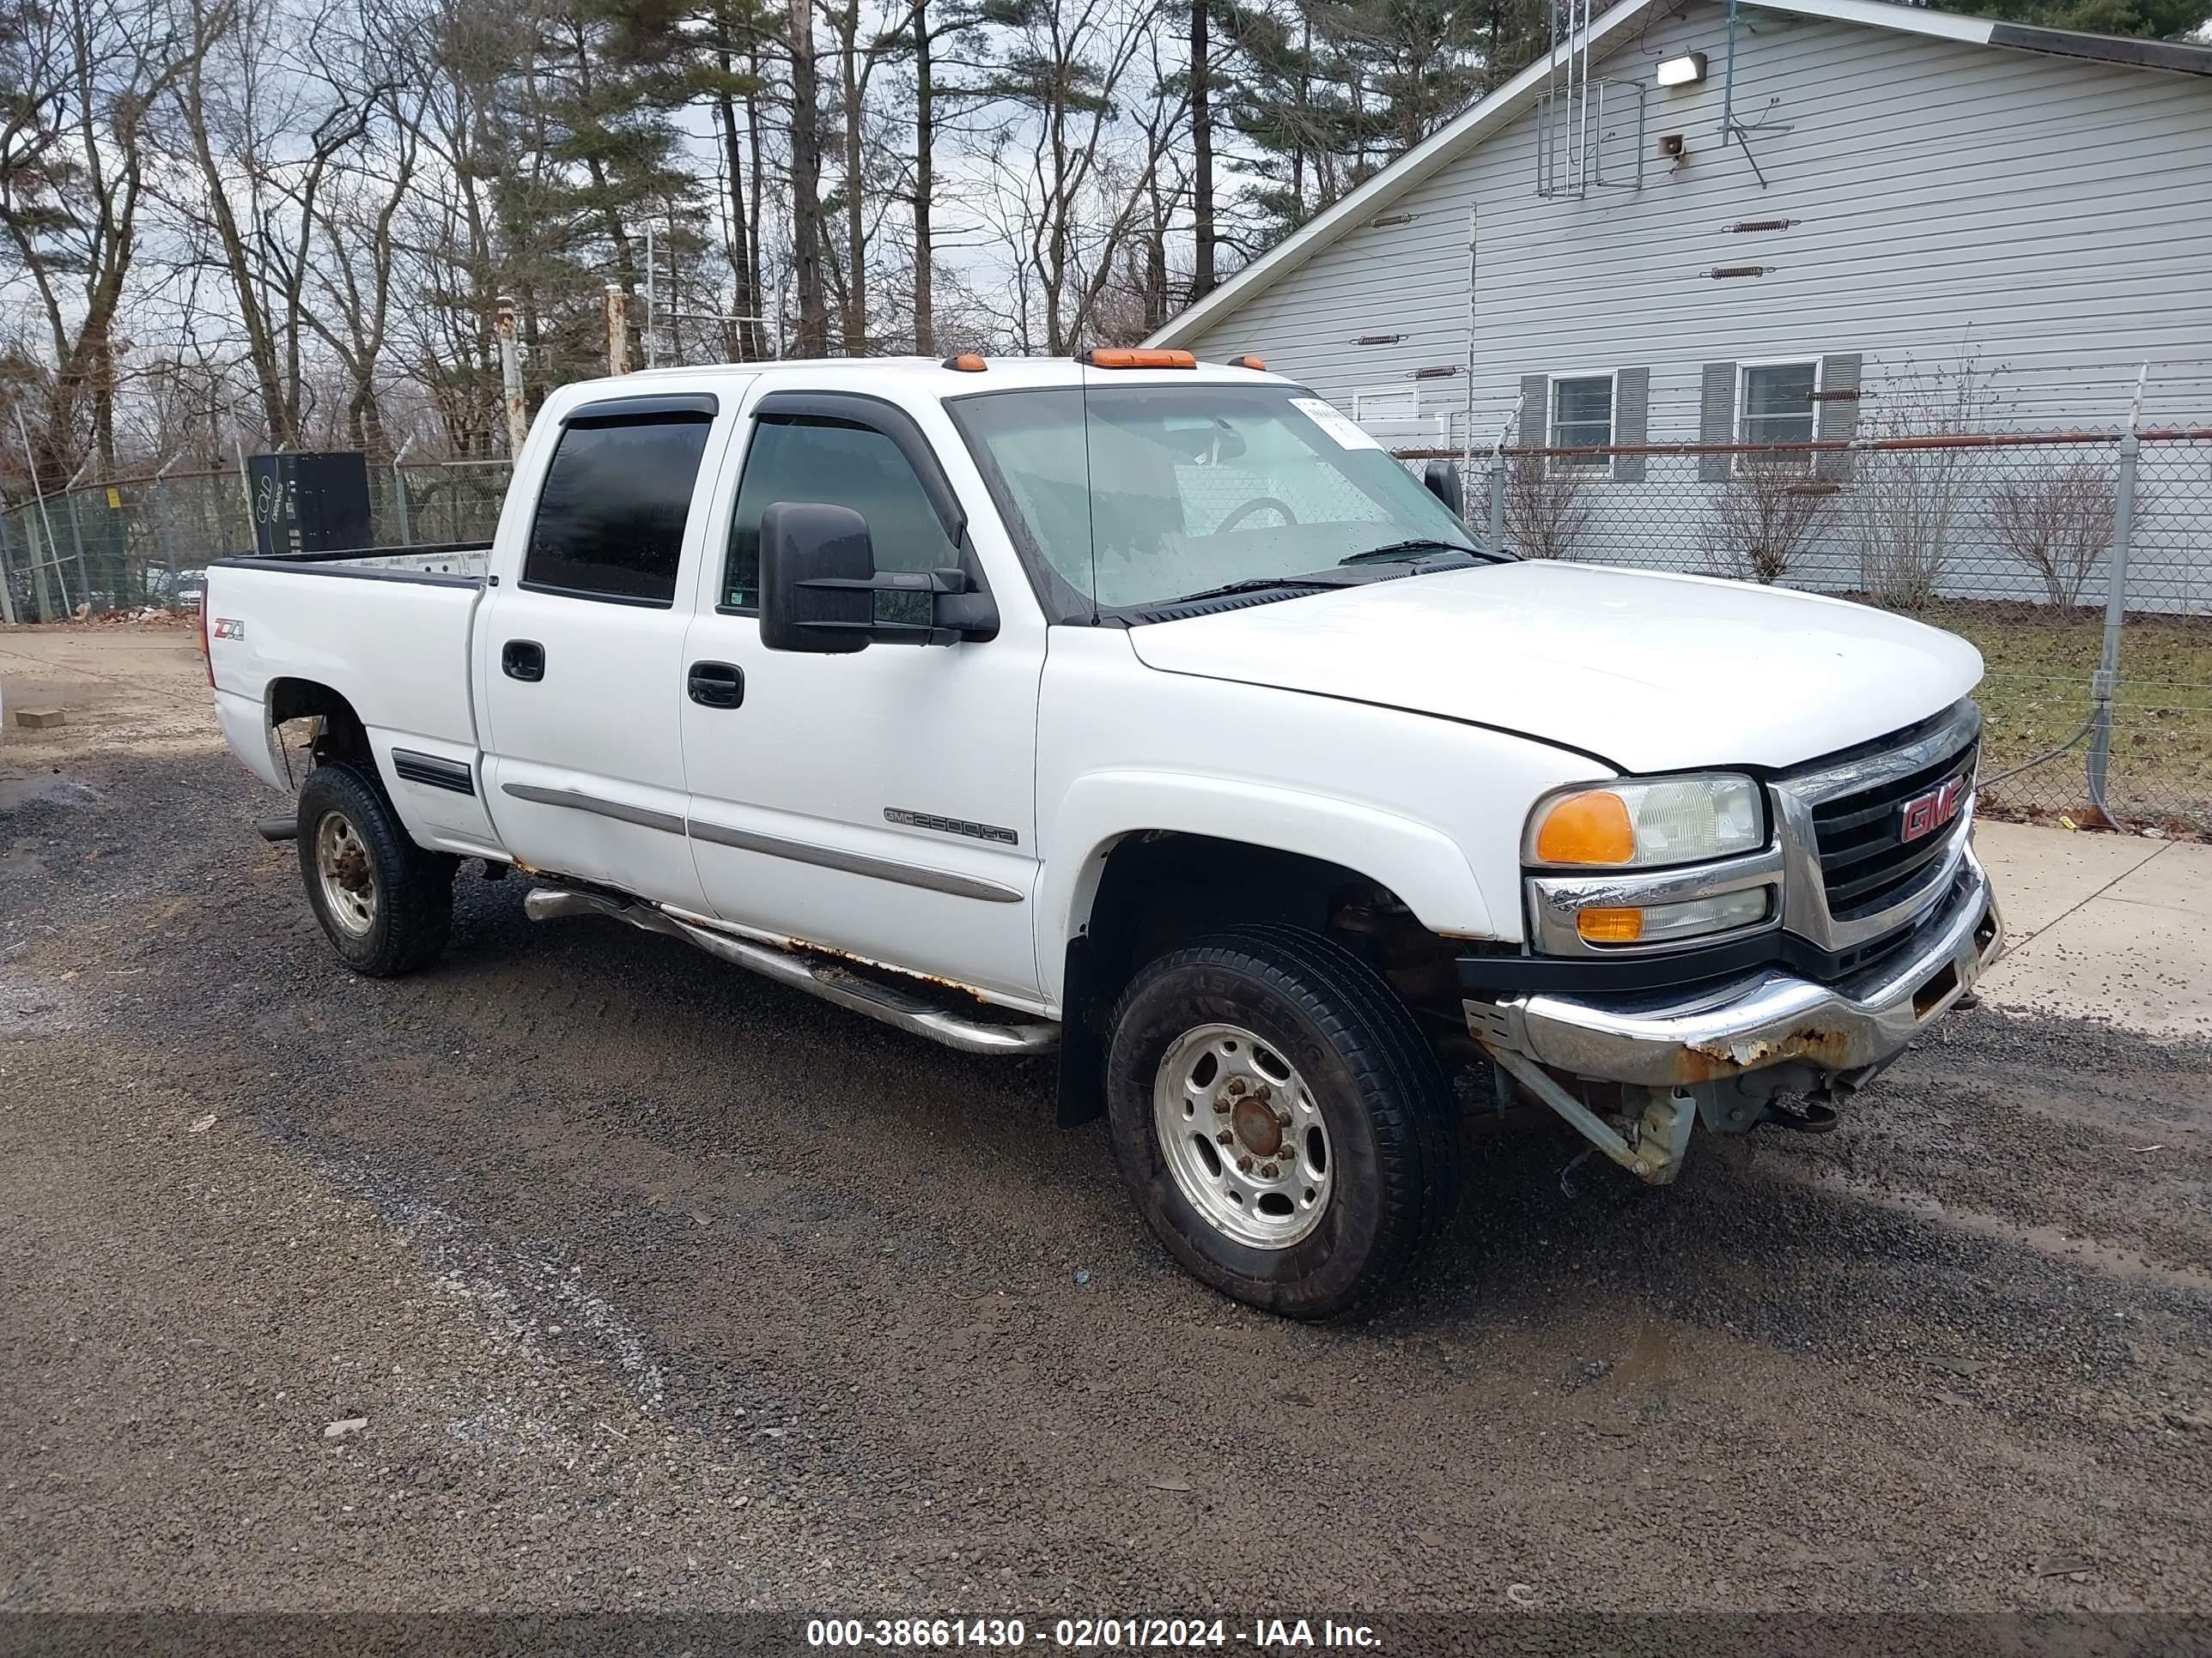
<instances>
[{"instance_id":1,"label":"white front door of the truck, excluding its black mirror","mask_svg":"<svg viewBox=\"0 0 2212 1658\"><path fill-rule=\"evenodd\" d=\"M841 657L761 646L759 535L774 502L867 517L883 570L982 568L931 440L896 405L772 393L708 524L684 657L741 703L684 705L690 833L717 915L1006 999L1037 995L1035 745L1044 628ZM987 520L995 531L995 517Z\"/></svg>"}]
</instances>

